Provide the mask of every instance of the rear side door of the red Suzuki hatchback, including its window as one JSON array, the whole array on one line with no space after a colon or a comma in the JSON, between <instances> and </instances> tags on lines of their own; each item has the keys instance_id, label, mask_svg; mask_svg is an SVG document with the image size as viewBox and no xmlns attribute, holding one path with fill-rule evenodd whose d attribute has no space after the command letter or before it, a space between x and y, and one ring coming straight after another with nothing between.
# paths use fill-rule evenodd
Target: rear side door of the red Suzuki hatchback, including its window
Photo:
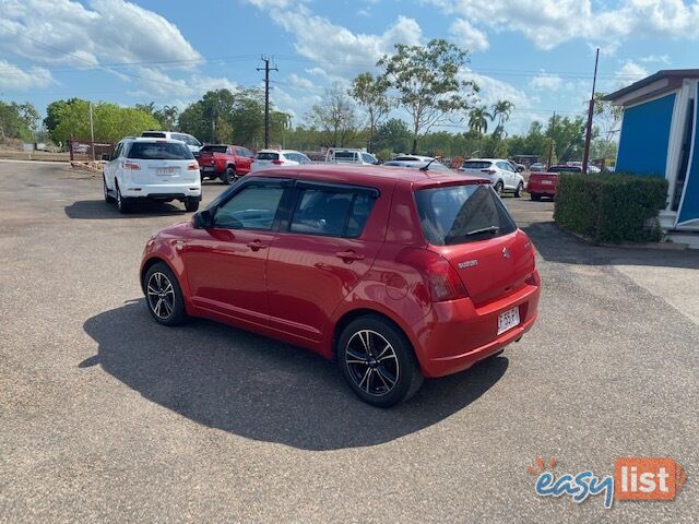
<instances>
[{"instance_id":1,"label":"rear side door of the red Suzuki hatchback, including its window","mask_svg":"<svg viewBox=\"0 0 699 524\"><path fill-rule=\"evenodd\" d=\"M381 247L365 226L378 192L370 188L297 182L296 203L270 250L271 322L320 341L330 315L364 275Z\"/></svg>"}]
</instances>

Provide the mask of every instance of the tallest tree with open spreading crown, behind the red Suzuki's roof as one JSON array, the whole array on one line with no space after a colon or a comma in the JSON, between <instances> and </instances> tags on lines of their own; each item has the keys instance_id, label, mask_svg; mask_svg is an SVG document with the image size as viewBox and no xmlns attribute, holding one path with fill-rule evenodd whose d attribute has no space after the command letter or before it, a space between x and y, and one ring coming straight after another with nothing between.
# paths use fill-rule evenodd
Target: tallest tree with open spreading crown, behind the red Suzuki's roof
<instances>
[{"instance_id":1,"label":"tallest tree with open spreading crown, behind the red Suzuki's roof","mask_svg":"<svg viewBox=\"0 0 699 524\"><path fill-rule=\"evenodd\" d=\"M459 80L459 70L469 57L445 39L433 39L427 46L395 45L395 53L377 62L398 93L399 105L411 116L413 147L417 136L434 126L469 108L477 85Z\"/></svg>"}]
</instances>

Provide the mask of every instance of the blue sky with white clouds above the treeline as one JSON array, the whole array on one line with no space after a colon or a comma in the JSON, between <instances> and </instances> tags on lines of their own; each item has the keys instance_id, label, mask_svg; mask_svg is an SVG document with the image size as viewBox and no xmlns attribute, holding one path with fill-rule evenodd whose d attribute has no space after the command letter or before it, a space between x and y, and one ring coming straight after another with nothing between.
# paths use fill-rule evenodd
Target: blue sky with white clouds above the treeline
<instances>
[{"instance_id":1,"label":"blue sky with white clouds above the treeline","mask_svg":"<svg viewBox=\"0 0 699 524\"><path fill-rule=\"evenodd\" d=\"M183 108L263 85L268 56L272 102L296 126L329 86L431 38L469 49L460 75L483 104L514 103L507 130L521 133L583 114L597 47L596 91L699 68L699 0L0 0L0 100Z\"/></svg>"}]
</instances>

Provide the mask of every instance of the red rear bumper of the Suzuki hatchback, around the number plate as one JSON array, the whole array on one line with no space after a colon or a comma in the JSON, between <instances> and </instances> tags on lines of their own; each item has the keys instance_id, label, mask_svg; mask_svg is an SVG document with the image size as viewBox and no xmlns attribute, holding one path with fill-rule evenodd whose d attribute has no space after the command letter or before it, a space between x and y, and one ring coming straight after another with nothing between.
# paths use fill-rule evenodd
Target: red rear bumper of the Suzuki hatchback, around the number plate
<instances>
[{"instance_id":1,"label":"red rear bumper of the Suzuki hatchback, around the number plate","mask_svg":"<svg viewBox=\"0 0 699 524\"><path fill-rule=\"evenodd\" d=\"M536 321L538 297L540 286L528 284L477 308L469 298L435 303L430 314L412 330L423 374L457 373L519 340ZM498 335L498 317L513 308L519 308L519 325Z\"/></svg>"}]
</instances>

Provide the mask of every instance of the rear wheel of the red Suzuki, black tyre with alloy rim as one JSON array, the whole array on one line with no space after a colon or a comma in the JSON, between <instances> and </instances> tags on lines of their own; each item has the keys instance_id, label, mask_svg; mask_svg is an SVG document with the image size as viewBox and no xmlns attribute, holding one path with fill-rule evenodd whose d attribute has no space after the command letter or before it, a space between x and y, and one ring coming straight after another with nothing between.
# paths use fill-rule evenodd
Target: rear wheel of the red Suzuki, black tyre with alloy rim
<instances>
[{"instance_id":1,"label":"rear wheel of the red Suzuki, black tyre with alloy rim","mask_svg":"<svg viewBox=\"0 0 699 524\"><path fill-rule=\"evenodd\" d=\"M352 391L372 406L400 404L424 381L405 334L380 317L364 315L350 322L337 338L336 356Z\"/></svg>"}]
</instances>

